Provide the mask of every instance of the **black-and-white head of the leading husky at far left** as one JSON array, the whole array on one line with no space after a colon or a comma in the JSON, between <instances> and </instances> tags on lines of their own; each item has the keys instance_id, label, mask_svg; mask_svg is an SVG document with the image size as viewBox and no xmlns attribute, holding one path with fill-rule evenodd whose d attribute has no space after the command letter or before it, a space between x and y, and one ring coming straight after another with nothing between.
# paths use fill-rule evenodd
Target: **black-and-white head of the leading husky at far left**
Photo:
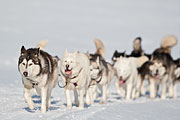
<instances>
[{"instance_id":1,"label":"black-and-white head of the leading husky at far left","mask_svg":"<svg viewBox=\"0 0 180 120\"><path fill-rule=\"evenodd\" d=\"M40 72L40 49L30 48L25 49L24 46L21 48L21 55L18 61L18 69L23 77L32 78L36 77Z\"/></svg>"}]
</instances>

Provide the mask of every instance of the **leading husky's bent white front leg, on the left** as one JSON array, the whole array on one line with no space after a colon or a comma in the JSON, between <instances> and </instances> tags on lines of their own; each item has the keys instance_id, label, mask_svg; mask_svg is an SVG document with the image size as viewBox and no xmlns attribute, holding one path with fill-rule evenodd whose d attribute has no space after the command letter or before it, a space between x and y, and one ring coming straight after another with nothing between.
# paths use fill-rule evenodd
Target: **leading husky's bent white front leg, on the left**
<instances>
[{"instance_id":1,"label":"leading husky's bent white front leg, on the left","mask_svg":"<svg viewBox=\"0 0 180 120\"><path fill-rule=\"evenodd\" d=\"M34 109L34 103L31 97L31 89L24 88L24 98L31 110Z\"/></svg>"}]
</instances>

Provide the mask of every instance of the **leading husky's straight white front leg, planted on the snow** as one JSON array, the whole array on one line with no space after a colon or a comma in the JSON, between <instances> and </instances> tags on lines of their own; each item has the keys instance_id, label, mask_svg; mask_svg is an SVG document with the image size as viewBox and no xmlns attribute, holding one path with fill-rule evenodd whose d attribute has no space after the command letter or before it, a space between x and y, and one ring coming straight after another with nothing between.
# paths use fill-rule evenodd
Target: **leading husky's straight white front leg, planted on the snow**
<instances>
[{"instance_id":1,"label":"leading husky's straight white front leg, planted on the snow","mask_svg":"<svg viewBox=\"0 0 180 120\"><path fill-rule=\"evenodd\" d=\"M47 105L47 86L41 88L41 112L46 112Z\"/></svg>"}]
</instances>

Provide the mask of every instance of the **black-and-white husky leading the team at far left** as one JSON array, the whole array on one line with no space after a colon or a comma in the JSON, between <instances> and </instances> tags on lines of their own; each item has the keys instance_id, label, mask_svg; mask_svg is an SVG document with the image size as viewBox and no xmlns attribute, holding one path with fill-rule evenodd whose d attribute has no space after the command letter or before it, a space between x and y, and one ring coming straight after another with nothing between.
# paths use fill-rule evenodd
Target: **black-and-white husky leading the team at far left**
<instances>
[{"instance_id":1,"label":"black-and-white husky leading the team at far left","mask_svg":"<svg viewBox=\"0 0 180 120\"><path fill-rule=\"evenodd\" d=\"M38 48L21 48L21 55L18 61L18 69L22 75L24 85L24 98L31 110L34 103L31 98L32 89L41 96L41 112L44 113L50 107L52 89L58 81L58 58L52 57L41 50L46 41L41 41Z\"/></svg>"}]
</instances>

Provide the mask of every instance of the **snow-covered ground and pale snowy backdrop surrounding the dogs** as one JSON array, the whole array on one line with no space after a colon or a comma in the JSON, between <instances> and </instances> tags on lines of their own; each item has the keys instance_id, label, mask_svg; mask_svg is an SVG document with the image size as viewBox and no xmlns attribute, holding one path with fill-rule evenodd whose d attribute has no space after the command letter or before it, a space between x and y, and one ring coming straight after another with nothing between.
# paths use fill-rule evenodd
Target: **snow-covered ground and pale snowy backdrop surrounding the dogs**
<instances>
[{"instance_id":1,"label":"snow-covered ground and pale snowy backdrop surrounding the dogs","mask_svg":"<svg viewBox=\"0 0 180 120\"><path fill-rule=\"evenodd\" d=\"M63 89L56 87L52 107L40 113L40 98L33 95L35 110L30 111L23 98L23 86L17 69L20 48L34 47L48 39L46 50L62 57L65 48L94 52L94 38L100 38L110 61L115 49L132 50L132 41L141 36L145 52L159 47L165 35L180 38L179 0L1 0L0 1L0 119L123 119L179 120L178 98L134 101L120 99L114 81L107 104L97 102L84 109L66 108ZM173 48L174 59L180 57L180 43Z\"/></svg>"}]
</instances>

